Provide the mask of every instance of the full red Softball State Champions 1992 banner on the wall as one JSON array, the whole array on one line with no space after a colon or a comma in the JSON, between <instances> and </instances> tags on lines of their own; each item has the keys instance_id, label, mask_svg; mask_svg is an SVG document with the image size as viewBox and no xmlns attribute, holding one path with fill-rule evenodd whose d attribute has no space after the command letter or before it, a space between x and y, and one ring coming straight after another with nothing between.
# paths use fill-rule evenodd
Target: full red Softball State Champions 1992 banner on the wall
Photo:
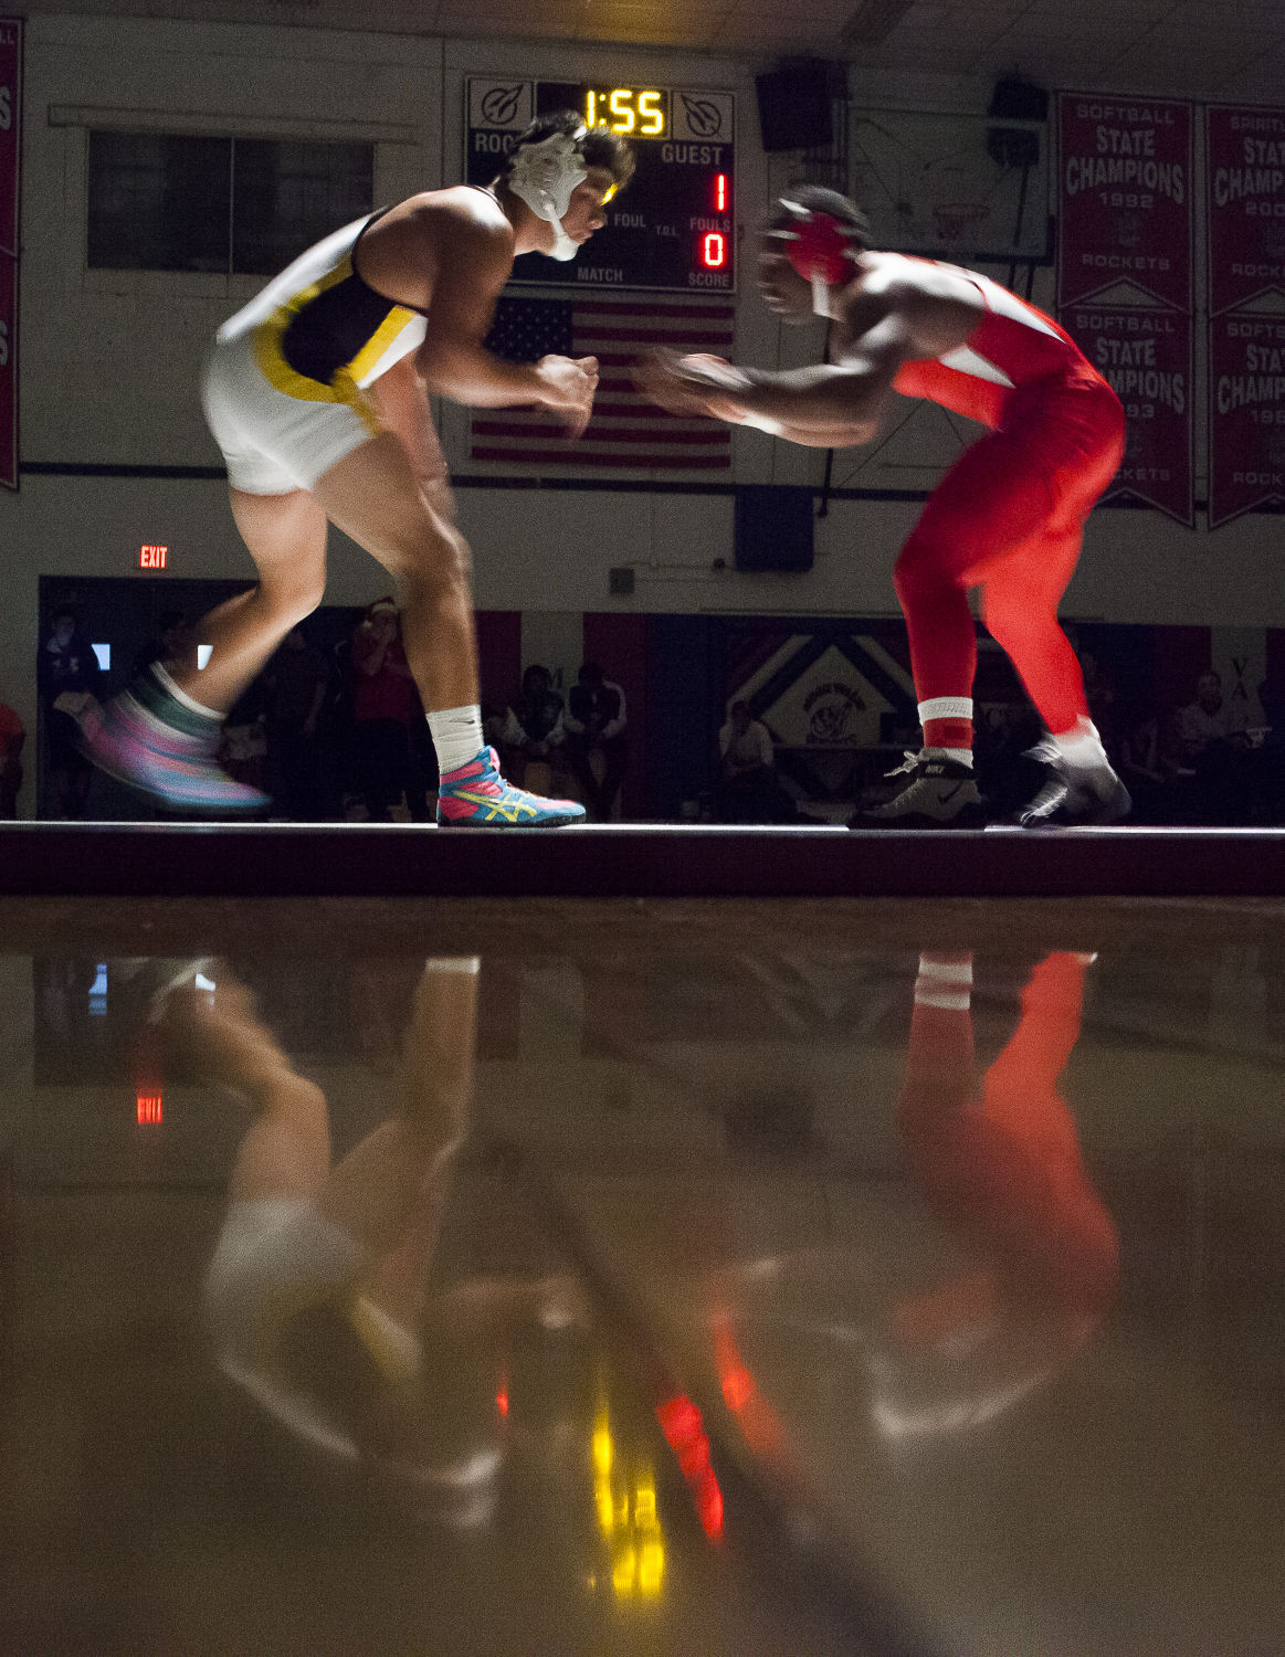
<instances>
[{"instance_id":1,"label":"full red Softball State Champions 1992 banner on the wall","mask_svg":"<svg viewBox=\"0 0 1285 1657\"><path fill-rule=\"evenodd\" d=\"M1127 282L1192 305L1192 106L1058 94L1058 305Z\"/></svg>"}]
</instances>

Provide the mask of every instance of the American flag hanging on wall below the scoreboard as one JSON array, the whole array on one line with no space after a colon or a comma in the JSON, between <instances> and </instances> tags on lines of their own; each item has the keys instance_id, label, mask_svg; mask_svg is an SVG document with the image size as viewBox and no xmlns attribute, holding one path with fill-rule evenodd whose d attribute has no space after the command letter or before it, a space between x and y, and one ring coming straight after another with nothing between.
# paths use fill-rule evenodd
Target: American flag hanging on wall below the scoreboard
<instances>
[{"instance_id":1,"label":"American flag hanging on wall below the scoreboard","mask_svg":"<svg viewBox=\"0 0 1285 1657\"><path fill-rule=\"evenodd\" d=\"M489 351L511 363L534 363L549 353L597 356L599 394L575 442L549 409L474 409L471 459L569 471L726 472L731 431L655 408L635 389L630 368L657 345L730 356L735 320L728 300L501 298L486 338Z\"/></svg>"}]
</instances>

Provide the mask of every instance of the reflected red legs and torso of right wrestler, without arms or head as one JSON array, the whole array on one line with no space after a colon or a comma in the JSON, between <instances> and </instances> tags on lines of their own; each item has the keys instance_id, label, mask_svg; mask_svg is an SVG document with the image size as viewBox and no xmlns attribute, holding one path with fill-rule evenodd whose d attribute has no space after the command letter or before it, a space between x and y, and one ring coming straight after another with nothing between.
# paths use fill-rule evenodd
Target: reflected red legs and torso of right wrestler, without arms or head
<instances>
[{"instance_id":1,"label":"reflected red legs and torso of right wrestler, without arms or head","mask_svg":"<svg viewBox=\"0 0 1285 1657\"><path fill-rule=\"evenodd\" d=\"M1055 953L1035 968L1016 1032L978 1089L972 959L920 958L897 1125L917 1186L973 1266L892 1311L877 1413L894 1432L1005 1408L1083 1345L1114 1294L1116 1228L1058 1095L1088 959ZM952 1399L948 1420L930 1395Z\"/></svg>"}]
</instances>

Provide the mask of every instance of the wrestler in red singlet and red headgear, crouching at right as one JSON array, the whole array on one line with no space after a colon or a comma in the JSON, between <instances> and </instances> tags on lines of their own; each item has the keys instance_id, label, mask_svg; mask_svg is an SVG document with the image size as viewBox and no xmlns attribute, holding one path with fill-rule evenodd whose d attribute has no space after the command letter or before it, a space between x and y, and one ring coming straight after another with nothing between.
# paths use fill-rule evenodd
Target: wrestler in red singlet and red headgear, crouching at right
<instances>
[{"instance_id":1,"label":"wrestler in red singlet and red headgear, crouching at right","mask_svg":"<svg viewBox=\"0 0 1285 1657\"><path fill-rule=\"evenodd\" d=\"M809 447L869 442L894 389L990 428L942 479L897 560L924 747L907 754L905 789L852 825L985 820L972 772L970 587L1050 732L1050 782L1021 820L1123 817L1129 795L1058 625L1084 519L1124 452L1119 399L1043 312L957 265L875 252L862 214L834 191L801 186L778 209L759 290L786 321L829 318L831 361L759 373L670 358L640 374L645 389L665 408Z\"/></svg>"}]
</instances>

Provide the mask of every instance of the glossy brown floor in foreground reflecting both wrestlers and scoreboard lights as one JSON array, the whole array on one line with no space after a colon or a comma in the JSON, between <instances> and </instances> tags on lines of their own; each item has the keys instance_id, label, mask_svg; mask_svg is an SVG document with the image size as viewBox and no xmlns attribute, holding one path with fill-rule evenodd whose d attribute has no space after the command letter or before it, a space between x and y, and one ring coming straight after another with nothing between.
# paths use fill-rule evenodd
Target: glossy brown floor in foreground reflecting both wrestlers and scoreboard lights
<instances>
[{"instance_id":1,"label":"glossy brown floor in foreground reflecting both wrestlers and scoreboard lights","mask_svg":"<svg viewBox=\"0 0 1285 1657\"><path fill-rule=\"evenodd\" d=\"M1282 1649L1282 918L0 905L0 1652Z\"/></svg>"}]
</instances>

